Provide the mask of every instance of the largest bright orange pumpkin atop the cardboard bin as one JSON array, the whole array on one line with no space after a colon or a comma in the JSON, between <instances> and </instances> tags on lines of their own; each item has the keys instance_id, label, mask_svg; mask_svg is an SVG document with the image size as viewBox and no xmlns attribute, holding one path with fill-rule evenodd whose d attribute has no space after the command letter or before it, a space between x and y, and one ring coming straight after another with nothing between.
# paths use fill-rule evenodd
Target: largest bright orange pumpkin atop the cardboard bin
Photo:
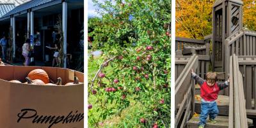
<instances>
[{"instance_id":1,"label":"largest bright orange pumpkin atop the cardboard bin","mask_svg":"<svg viewBox=\"0 0 256 128\"><path fill-rule=\"evenodd\" d=\"M48 74L42 69L32 70L29 72L28 77L32 80L40 79L41 81L44 81L45 84L49 83L50 81Z\"/></svg>"}]
</instances>

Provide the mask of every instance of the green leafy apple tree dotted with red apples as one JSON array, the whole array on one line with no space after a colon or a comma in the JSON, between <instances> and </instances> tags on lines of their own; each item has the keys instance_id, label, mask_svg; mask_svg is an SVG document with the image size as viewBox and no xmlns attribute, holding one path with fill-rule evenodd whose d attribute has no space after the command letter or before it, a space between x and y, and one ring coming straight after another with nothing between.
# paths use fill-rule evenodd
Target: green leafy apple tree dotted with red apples
<instances>
[{"instance_id":1,"label":"green leafy apple tree dotted with red apples","mask_svg":"<svg viewBox=\"0 0 256 128\"><path fill-rule=\"evenodd\" d=\"M89 19L88 35L93 37L92 49L104 54L97 63L101 70L89 85L90 127L120 115L131 104L145 109L116 127L170 127L171 1L93 2L101 17Z\"/></svg>"}]
</instances>

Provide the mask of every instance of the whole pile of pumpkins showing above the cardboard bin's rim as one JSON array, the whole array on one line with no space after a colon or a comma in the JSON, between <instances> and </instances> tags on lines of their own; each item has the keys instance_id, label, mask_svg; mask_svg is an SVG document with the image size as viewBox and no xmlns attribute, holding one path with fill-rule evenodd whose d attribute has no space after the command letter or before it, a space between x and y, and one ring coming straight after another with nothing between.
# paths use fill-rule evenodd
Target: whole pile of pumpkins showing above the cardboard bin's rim
<instances>
[{"instance_id":1,"label":"whole pile of pumpkins showing above the cardboard bin's rim","mask_svg":"<svg viewBox=\"0 0 256 128\"><path fill-rule=\"evenodd\" d=\"M58 77L57 82L54 83L54 81L52 81L49 78L47 72L45 72L45 70L42 70L42 69L35 69L35 70L32 70L31 72L29 72L28 77L26 77L26 81L27 82L24 83L24 84L62 85L61 77ZM10 82L12 82L12 83L21 83L18 80L12 80ZM74 77L74 82L73 83L67 83L67 84L65 84L65 86L74 85L74 84L80 84L79 79L76 76Z\"/></svg>"}]
</instances>

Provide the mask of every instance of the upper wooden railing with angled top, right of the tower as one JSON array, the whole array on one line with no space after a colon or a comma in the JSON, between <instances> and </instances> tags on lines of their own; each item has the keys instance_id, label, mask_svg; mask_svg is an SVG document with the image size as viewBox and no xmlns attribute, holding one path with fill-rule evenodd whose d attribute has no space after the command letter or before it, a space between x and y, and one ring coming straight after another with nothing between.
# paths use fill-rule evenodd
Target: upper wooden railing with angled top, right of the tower
<instances>
[{"instance_id":1,"label":"upper wooden railing with angled top, right of the tower","mask_svg":"<svg viewBox=\"0 0 256 128\"><path fill-rule=\"evenodd\" d=\"M223 70L229 72L229 58L236 56L256 56L256 33L241 29L225 40L225 56L223 58ZM225 66L225 67L224 67Z\"/></svg>"}]
</instances>

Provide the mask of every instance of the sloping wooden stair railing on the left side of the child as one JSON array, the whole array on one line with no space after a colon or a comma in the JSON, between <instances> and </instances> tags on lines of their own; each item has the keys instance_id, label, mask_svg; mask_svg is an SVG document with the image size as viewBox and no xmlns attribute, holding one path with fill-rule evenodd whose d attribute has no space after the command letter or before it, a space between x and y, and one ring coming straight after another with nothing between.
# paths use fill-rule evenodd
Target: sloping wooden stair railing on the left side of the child
<instances>
[{"instance_id":1,"label":"sloping wooden stair railing on the left side of the child","mask_svg":"<svg viewBox=\"0 0 256 128\"><path fill-rule=\"evenodd\" d=\"M191 56L187 64L175 81L175 127L184 127L195 111L195 80L191 79L191 69L198 67L198 56Z\"/></svg>"}]
</instances>

